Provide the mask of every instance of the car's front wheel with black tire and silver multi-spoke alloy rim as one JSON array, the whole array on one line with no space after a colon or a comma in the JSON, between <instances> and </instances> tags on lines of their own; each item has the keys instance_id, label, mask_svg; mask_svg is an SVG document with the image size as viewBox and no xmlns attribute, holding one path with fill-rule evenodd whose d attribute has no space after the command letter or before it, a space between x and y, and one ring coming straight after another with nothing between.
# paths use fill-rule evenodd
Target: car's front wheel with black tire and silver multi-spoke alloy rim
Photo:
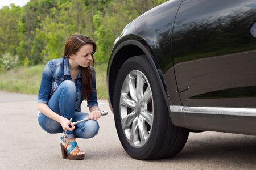
<instances>
[{"instance_id":1,"label":"car's front wheel with black tire and silver multi-spoke alloy rim","mask_svg":"<svg viewBox=\"0 0 256 170\"><path fill-rule=\"evenodd\" d=\"M187 142L189 130L172 124L156 73L146 56L123 63L115 83L113 108L119 140L135 159L169 158Z\"/></svg>"}]
</instances>

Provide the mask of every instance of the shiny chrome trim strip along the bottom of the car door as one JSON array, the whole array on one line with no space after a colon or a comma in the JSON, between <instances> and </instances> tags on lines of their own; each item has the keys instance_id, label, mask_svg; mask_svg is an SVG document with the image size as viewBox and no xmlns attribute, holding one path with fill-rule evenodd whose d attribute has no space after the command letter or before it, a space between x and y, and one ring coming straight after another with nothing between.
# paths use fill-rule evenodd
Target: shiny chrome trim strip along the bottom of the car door
<instances>
[{"instance_id":1,"label":"shiny chrome trim strip along the bottom of the car door","mask_svg":"<svg viewBox=\"0 0 256 170\"><path fill-rule=\"evenodd\" d=\"M220 108L220 107L183 107L170 105L171 112L195 113L195 114L222 114L231 116L254 116L256 109L253 108Z\"/></svg>"}]
</instances>

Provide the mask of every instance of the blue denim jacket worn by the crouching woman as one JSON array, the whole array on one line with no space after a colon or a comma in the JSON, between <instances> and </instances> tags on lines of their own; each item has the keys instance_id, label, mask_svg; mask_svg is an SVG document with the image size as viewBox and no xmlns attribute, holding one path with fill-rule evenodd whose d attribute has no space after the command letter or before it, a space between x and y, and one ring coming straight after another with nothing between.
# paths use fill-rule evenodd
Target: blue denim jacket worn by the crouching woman
<instances>
[{"instance_id":1,"label":"blue denim jacket worn by the crouching woman","mask_svg":"<svg viewBox=\"0 0 256 170\"><path fill-rule=\"evenodd\" d=\"M92 87L96 90L96 72L92 66L90 66L93 71L93 83ZM48 103L49 99L51 99L52 94L59 87L59 85L65 80L71 80L72 77L68 67L68 57L65 58L57 58L49 61L44 68L42 74L42 80L40 85L40 90L38 94L38 103ZM75 80L76 85L76 107L77 111L81 111L81 104L84 100L82 96L82 84L81 84L81 69L77 78ZM97 101L97 92L94 91L90 94L90 97L87 101L87 107L98 106Z\"/></svg>"}]
</instances>

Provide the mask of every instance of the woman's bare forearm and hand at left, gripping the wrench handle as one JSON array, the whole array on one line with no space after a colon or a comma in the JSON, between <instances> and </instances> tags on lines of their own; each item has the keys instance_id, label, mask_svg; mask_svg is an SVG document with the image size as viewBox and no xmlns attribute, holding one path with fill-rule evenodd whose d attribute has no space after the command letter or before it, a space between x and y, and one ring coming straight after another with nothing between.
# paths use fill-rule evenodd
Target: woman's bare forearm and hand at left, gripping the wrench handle
<instances>
[{"instance_id":1,"label":"woman's bare forearm and hand at left, gripping the wrench handle","mask_svg":"<svg viewBox=\"0 0 256 170\"><path fill-rule=\"evenodd\" d=\"M73 124L70 124L69 126L69 120L65 117L60 116L59 114L55 113L48 107L45 103L38 103L38 110L42 112L45 116L59 122L63 128L63 130L69 130L72 131L75 129L75 126Z\"/></svg>"}]
</instances>

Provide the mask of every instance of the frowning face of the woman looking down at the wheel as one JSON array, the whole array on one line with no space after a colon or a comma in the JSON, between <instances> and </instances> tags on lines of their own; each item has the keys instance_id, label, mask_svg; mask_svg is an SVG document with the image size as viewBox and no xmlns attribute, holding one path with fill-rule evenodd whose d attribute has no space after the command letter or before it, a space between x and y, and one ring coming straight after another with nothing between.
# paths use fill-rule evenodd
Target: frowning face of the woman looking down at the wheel
<instances>
[{"instance_id":1,"label":"frowning face of the woman looking down at the wheel","mask_svg":"<svg viewBox=\"0 0 256 170\"><path fill-rule=\"evenodd\" d=\"M81 67L88 67L92 61L92 52L93 45L86 44L82 46L76 54L72 54L71 58L73 59L74 65L79 65Z\"/></svg>"}]
</instances>

